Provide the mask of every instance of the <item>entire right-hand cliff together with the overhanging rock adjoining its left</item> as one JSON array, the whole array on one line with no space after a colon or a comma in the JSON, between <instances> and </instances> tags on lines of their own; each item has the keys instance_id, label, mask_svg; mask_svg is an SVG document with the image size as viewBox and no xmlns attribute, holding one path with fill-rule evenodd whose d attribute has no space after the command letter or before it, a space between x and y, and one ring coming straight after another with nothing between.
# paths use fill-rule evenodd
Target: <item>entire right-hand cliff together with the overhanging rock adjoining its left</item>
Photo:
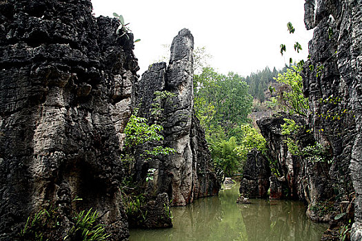
<instances>
[{"instance_id":1,"label":"entire right-hand cliff together with the overhanging rock adjoining its left","mask_svg":"<svg viewBox=\"0 0 362 241\"><path fill-rule=\"evenodd\" d=\"M281 114L258 123L275 174L270 197L299 198L308 203L310 218L331 221L324 240L339 236L349 220L351 240L362 239L361 6L361 1L305 1L305 27L314 29L301 73L308 118ZM285 118L304 130L283 135ZM298 141L299 154L288 149L288 138Z\"/></svg>"}]
</instances>

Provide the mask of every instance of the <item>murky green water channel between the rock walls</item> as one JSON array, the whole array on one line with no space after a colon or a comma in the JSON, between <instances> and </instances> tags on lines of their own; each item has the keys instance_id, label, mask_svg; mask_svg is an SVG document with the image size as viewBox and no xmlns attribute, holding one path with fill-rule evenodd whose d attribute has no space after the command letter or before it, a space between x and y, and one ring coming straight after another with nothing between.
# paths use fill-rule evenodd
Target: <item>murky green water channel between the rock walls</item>
<instances>
[{"instance_id":1,"label":"murky green water channel between the rock walls","mask_svg":"<svg viewBox=\"0 0 362 241\"><path fill-rule=\"evenodd\" d=\"M173 228L131 229L130 241L312 241L328 227L309 220L302 202L253 199L241 205L238 196L239 185L234 185L219 196L173 207Z\"/></svg>"}]
</instances>

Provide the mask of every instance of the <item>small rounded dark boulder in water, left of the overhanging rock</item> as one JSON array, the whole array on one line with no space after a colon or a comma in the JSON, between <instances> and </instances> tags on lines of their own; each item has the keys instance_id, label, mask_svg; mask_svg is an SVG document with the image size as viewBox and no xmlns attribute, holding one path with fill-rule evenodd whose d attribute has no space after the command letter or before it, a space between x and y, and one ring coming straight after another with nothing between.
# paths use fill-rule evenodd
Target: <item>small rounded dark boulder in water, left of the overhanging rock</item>
<instances>
[{"instance_id":1,"label":"small rounded dark boulder in water, left of the overhanging rock","mask_svg":"<svg viewBox=\"0 0 362 241\"><path fill-rule=\"evenodd\" d=\"M270 187L269 160L260 151L250 151L243 169L240 182L241 196L248 198L266 198Z\"/></svg>"}]
</instances>

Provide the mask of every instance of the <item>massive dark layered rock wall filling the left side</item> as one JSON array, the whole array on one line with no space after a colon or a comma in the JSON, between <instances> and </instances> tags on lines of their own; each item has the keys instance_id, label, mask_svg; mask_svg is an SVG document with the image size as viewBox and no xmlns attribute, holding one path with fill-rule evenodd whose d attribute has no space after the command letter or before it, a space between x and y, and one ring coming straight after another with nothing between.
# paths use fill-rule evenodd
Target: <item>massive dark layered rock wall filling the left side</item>
<instances>
[{"instance_id":1,"label":"massive dark layered rock wall filling the left side","mask_svg":"<svg viewBox=\"0 0 362 241\"><path fill-rule=\"evenodd\" d=\"M91 12L89 0L0 1L0 240L48 201L64 231L92 207L112 240L128 236L119 153L139 67L132 35Z\"/></svg>"}]
</instances>

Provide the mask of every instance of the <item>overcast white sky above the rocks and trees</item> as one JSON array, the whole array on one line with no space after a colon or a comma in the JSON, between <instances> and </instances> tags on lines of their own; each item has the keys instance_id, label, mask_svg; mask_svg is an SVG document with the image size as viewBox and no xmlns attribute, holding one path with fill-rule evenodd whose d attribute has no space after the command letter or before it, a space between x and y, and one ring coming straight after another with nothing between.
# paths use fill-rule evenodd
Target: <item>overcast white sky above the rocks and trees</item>
<instances>
[{"instance_id":1,"label":"overcast white sky above the rocks and trees","mask_svg":"<svg viewBox=\"0 0 362 241\"><path fill-rule=\"evenodd\" d=\"M96 16L122 14L134 33L134 54L143 74L148 65L164 54L182 28L194 36L195 46L205 46L213 57L210 65L227 74L242 76L266 66L280 69L293 60L306 59L312 31L303 23L304 0L92 0ZM296 29L289 34L287 23ZM303 52L294 54L294 42ZM279 45L287 46L281 56Z\"/></svg>"}]
</instances>

